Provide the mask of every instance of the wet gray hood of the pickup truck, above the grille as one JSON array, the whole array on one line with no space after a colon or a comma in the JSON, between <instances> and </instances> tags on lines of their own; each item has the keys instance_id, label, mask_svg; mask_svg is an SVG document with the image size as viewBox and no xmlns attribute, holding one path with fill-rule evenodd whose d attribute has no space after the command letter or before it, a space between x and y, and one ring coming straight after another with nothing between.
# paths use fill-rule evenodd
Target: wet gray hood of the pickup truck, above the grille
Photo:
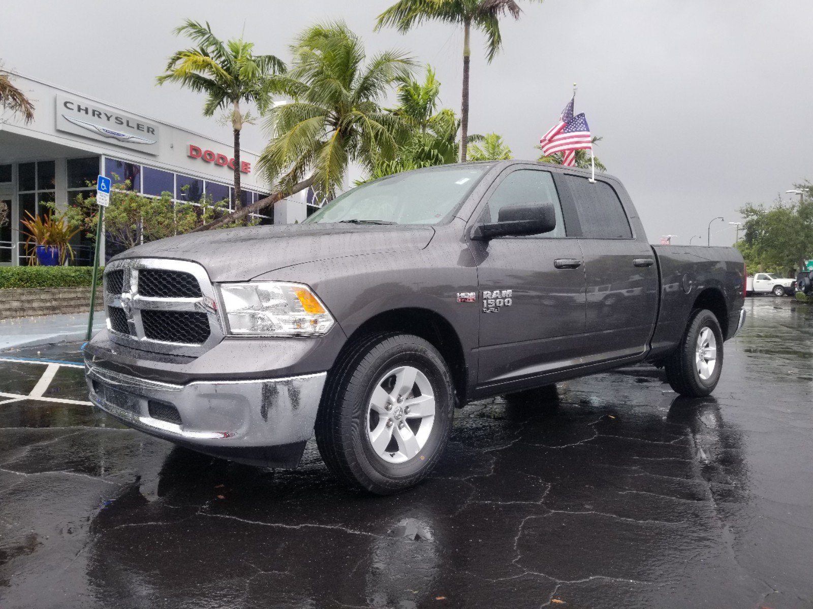
<instances>
[{"instance_id":1,"label":"wet gray hood of the pickup truck, above the grille","mask_svg":"<svg viewBox=\"0 0 813 609\"><path fill-rule=\"evenodd\" d=\"M178 235L128 249L112 258L174 258L198 262L213 282L246 281L302 262L359 254L423 249L431 227L288 224Z\"/></svg>"}]
</instances>

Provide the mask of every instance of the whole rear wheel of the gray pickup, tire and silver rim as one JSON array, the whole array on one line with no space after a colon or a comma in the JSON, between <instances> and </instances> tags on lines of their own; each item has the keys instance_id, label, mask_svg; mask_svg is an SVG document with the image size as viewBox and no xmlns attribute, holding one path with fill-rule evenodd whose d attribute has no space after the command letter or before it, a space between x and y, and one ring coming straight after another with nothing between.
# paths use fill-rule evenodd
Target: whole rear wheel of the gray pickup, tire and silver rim
<instances>
[{"instance_id":1,"label":"whole rear wheel of the gray pickup, tire and silver rim","mask_svg":"<svg viewBox=\"0 0 813 609\"><path fill-rule=\"evenodd\" d=\"M694 311L678 348L664 364L669 385L680 395L702 397L714 391L723 369L723 333L715 314Z\"/></svg>"}]
</instances>

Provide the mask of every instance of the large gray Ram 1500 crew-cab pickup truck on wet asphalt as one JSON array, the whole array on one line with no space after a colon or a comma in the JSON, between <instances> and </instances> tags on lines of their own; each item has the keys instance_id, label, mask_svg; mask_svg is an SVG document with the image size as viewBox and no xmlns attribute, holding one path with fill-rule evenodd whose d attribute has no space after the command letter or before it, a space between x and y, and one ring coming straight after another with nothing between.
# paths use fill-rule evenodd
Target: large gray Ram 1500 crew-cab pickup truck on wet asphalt
<instances>
[{"instance_id":1,"label":"large gray Ram 1500 crew-cab pickup truck on wet asphalt","mask_svg":"<svg viewBox=\"0 0 813 609\"><path fill-rule=\"evenodd\" d=\"M733 248L652 246L620 182L534 162L378 179L293 226L116 256L90 399L209 455L373 493L441 458L454 408L650 362L708 395L745 321Z\"/></svg>"}]
</instances>

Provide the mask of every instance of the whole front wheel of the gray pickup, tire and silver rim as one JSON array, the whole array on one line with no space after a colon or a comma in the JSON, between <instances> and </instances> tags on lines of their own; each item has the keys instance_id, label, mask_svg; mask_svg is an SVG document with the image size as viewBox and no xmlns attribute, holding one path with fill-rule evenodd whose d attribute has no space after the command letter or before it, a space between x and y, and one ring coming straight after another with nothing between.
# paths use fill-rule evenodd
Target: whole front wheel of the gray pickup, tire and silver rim
<instances>
[{"instance_id":1,"label":"whole front wheel of the gray pickup, tire and silver rim","mask_svg":"<svg viewBox=\"0 0 813 609\"><path fill-rule=\"evenodd\" d=\"M418 484L451 433L454 384L441 354L418 336L372 335L334 370L315 426L325 464L376 495Z\"/></svg>"}]
</instances>

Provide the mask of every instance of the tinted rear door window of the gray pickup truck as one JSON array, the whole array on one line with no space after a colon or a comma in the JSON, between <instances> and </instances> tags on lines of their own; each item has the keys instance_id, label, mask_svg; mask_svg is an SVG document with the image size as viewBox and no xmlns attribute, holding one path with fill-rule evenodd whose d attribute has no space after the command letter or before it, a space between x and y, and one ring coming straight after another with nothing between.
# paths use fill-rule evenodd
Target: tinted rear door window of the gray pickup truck
<instances>
[{"instance_id":1,"label":"tinted rear door window of the gray pickup truck","mask_svg":"<svg viewBox=\"0 0 813 609\"><path fill-rule=\"evenodd\" d=\"M615 190L606 182L590 184L587 178L566 175L582 236L588 239L632 239L624 206Z\"/></svg>"}]
</instances>

